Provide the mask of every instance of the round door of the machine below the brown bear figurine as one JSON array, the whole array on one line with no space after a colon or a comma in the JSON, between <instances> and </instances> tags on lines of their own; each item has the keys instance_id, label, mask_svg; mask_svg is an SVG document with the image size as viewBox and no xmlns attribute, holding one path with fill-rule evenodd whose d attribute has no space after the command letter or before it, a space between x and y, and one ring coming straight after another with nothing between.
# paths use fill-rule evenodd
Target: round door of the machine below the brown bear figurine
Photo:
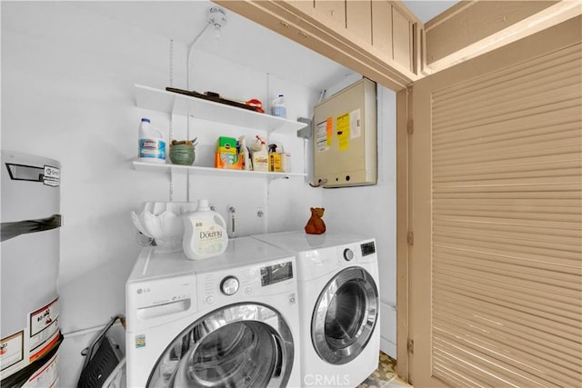
<instances>
[{"instance_id":1,"label":"round door of the machine below the brown bear figurine","mask_svg":"<svg viewBox=\"0 0 582 388\"><path fill-rule=\"evenodd\" d=\"M327 363L349 363L370 340L378 315L378 292L372 275L349 267L326 284L311 319L311 340Z\"/></svg>"}]
</instances>

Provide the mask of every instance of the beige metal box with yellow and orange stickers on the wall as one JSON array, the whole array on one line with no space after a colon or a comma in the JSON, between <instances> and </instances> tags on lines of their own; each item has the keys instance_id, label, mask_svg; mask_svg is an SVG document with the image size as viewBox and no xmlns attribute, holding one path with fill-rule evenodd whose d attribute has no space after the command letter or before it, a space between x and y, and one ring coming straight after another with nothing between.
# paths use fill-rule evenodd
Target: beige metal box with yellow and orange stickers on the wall
<instances>
[{"instance_id":1,"label":"beige metal box with yellow and orange stickers on the wall","mask_svg":"<svg viewBox=\"0 0 582 388\"><path fill-rule=\"evenodd\" d=\"M314 186L377 182L376 83L367 78L316 104Z\"/></svg>"}]
</instances>

